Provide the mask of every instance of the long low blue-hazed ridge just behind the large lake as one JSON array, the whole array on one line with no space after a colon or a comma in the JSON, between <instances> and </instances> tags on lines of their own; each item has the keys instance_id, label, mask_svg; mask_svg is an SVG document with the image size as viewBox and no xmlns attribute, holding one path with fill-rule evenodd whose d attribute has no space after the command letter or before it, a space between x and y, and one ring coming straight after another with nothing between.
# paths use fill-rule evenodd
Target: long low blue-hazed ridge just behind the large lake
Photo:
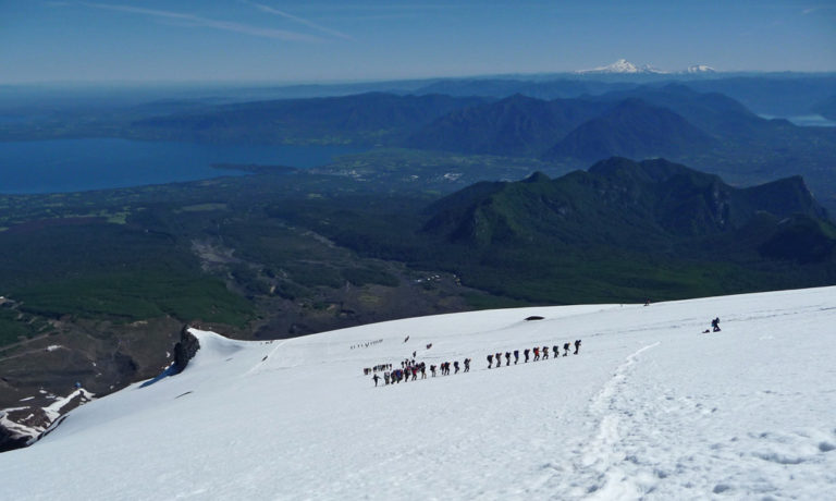
<instances>
[{"instance_id":1,"label":"long low blue-hazed ridge just behind the large lake","mask_svg":"<svg viewBox=\"0 0 836 501\"><path fill-rule=\"evenodd\" d=\"M216 106L138 120L126 131L143 139L263 144L393 144L483 98L370 93Z\"/></svg>"}]
</instances>

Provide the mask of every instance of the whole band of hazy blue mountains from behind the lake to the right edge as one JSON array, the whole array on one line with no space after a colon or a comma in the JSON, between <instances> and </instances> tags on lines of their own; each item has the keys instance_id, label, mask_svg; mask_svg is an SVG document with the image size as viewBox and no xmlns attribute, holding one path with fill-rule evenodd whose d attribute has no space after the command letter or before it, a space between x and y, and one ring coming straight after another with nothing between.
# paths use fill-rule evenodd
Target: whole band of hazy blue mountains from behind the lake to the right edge
<instances>
[{"instance_id":1,"label":"whole band of hazy blue mountains from behind the lake to the right edge","mask_svg":"<svg viewBox=\"0 0 836 501\"><path fill-rule=\"evenodd\" d=\"M475 85L491 88L493 83ZM766 120L722 94L680 83L553 100L519 94L492 99L372 93L205 105L113 124L101 133L168 140L408 146L543 158L571 167L611 156L665 157L735 183L765 182L782 172L801 174L825 204L836 200L836 180L827 168L836 158L836 127Z\"/></svg>"}]
</instances>

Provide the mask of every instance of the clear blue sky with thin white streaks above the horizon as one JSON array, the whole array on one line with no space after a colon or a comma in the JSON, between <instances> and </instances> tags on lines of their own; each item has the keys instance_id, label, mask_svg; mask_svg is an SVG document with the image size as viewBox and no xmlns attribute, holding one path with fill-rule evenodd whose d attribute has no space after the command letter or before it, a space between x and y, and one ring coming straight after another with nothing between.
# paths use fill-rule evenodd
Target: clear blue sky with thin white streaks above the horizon
<instances>
[{"instance_id":1,"label":"clear blue sky with thin white streaks above the horizon","mask_svg":"<svg viewBox=\"0 0 836 501\"><path fill-rule=\"evenodd\" d=\"M836 71L836 2L0 0L0 83Z\"/></svg>"}]
</instances>

